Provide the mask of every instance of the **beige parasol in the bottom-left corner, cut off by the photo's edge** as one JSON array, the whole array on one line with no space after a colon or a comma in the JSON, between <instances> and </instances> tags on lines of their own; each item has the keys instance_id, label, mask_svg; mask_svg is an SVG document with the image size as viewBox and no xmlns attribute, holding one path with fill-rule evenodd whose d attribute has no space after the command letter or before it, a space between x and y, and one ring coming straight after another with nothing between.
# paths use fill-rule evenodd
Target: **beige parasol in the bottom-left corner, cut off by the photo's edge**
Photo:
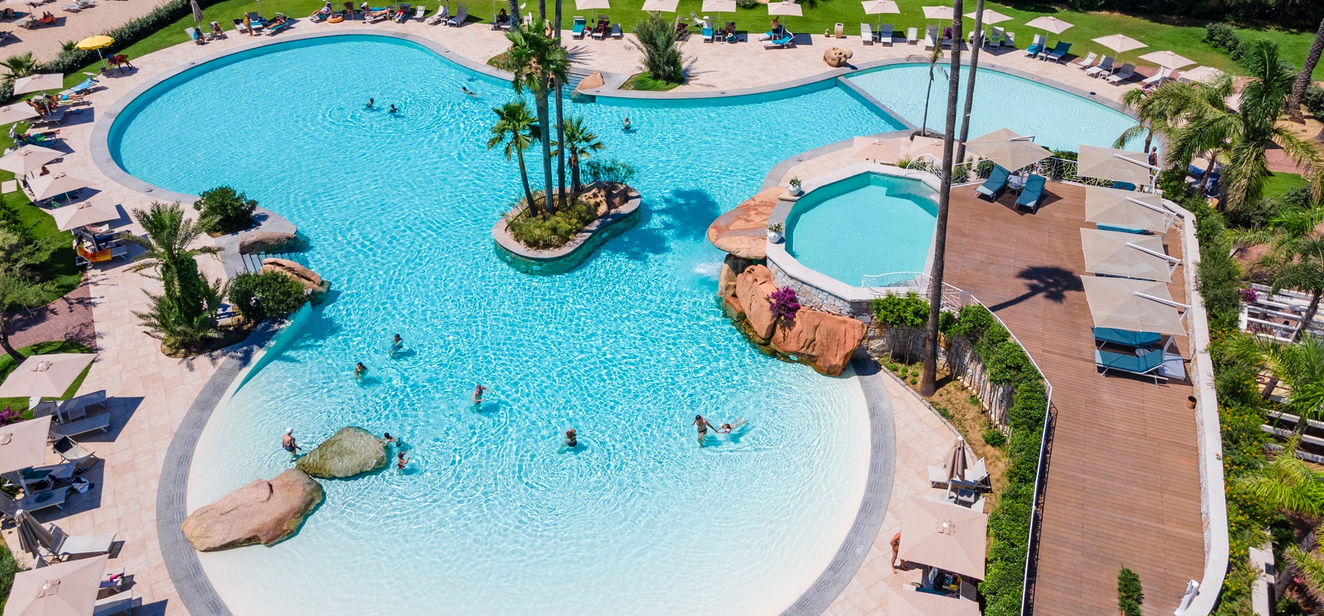
<instances>
[{"instance_id":1,"label":"beige parasol in the bottom-left corner, cut off by the photo's edge","mask_svg":"<svg viewBox=\"0 0 1324 616\"><path fill-rule=\"evenodd\" d=\"M4 616L91 616L109 558L102 554L20 571Z\"/></svg>"}]
</instances>

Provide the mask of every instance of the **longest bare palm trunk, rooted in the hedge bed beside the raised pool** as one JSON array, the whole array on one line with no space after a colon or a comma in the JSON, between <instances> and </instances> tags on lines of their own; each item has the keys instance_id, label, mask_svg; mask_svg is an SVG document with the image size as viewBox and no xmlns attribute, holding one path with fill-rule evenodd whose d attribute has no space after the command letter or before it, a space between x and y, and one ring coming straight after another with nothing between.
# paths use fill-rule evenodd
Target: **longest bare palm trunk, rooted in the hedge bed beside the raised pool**
<instances>
[{"instance_id":1,"label":"longest bare palm trunk, rooted in the hedge bed beside the raised pool","mask_svg":"<svg viewBox=\"0 0 1324 616\"><path fill-rule=\"evenodd\" d=\"M952 74L947 87L947 134L943 136L943 184L937 200L937 223L933 229L933 268L928 274L928 327L924 329L924 369L920 371L919 394L937 391L937 321L943 311L943 264L947 258L947 214L952 202L952 155L956 136L956 100L961 91L961 0L952 0Z\"/></svg>"}]
</instances>

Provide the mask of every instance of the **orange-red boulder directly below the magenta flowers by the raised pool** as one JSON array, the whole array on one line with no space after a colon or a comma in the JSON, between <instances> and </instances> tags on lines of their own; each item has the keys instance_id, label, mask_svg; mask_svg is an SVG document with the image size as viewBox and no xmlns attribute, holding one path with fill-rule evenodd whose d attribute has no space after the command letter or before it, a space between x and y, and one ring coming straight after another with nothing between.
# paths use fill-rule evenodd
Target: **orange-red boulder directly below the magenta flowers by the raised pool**
<instances>
[{"instance_id":1,"label":"orange-red boulder directly below the magenta flowers by the raised pool","mask_svg":"<svg viewBox=\"0 0 1324 616\"><path fill-rule=\"evenodd\" d=\"M863 321L855 319L801 308L796 312L794 321L777 324L772 345L808 362L822 374L837 377L865 341L867 329Z\"/></svg>"}]
</instances>

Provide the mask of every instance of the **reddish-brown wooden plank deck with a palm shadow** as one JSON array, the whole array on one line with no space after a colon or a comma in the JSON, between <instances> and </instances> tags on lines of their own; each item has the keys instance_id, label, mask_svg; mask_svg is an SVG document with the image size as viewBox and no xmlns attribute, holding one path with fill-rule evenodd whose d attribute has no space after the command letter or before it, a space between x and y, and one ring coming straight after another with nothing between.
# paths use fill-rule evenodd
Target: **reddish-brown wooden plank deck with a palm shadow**
<instances>
[{"instance_id":1,"label":"reddish-brown wooden plank deck with a palm shadow","mask_svg":"<svg viewBox=\"0 0 1324 616\"><path fill-rule=\"evenodd\" d=\"M1113 616L1117 570L1144 584L1147 616L1170 615L1204 574L1194 411L1188 382L1102 377L1080 275L1084 188L1049 182L1035 214L1012 198L952 190L948 284L974 293L1019 338L1053 385L1051 440L1034 600L1037 615ZM1181 237L1164 238L1181 256ZM1182 270L1169 289L1185 303ZM1186 338L1177 340L1188 356ZM1186 357L1186 373L1190 373Z\"/></svg>"}]
</instances>

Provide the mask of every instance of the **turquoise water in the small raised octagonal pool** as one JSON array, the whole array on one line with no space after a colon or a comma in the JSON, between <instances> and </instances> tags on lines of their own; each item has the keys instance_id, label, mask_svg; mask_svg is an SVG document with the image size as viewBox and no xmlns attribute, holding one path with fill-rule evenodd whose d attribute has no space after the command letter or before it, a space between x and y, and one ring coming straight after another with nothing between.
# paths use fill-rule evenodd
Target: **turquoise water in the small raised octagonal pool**
<instances>
[{"instance_id":1,"label":"turquoise water in the small raised octagonal pool","mask_svg":"<svg viewBox=\"0 0 1324 616\"><path fill-rule=\"evenodd\" d=\"M851 287L865 275L925 271L936 198L919 180L880 173L828 184L786 215L786 251Z\"/></svg>"}]
</instances>

